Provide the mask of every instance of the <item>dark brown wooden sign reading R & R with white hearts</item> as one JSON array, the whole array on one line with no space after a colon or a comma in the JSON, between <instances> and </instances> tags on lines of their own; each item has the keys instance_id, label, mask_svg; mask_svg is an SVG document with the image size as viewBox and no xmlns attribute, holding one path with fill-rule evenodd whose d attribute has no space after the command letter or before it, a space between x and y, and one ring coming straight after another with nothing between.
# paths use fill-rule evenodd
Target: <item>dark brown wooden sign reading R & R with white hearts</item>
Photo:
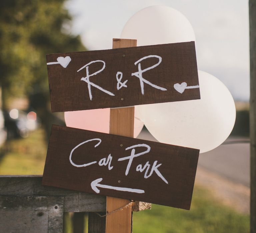
<instances>
[{"instance_id":1,"label":"dark brown wooden sign reading R & R with white hearts","mask_svg":"<svg viewBox=\"0 0 256 233\"><path fill-rule=\"evenodd\" d=\"M195 43L47 55L52 112L200 99Z\"/></svg>"}]
</instances>

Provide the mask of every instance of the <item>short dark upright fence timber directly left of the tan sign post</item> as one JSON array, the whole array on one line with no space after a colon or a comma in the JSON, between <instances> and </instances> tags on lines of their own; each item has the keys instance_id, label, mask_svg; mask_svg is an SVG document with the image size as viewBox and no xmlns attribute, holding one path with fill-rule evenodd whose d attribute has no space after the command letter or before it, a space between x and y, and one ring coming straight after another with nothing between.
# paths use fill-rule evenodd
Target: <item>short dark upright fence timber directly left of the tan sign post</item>
<instances>
[{"instance_id":1,"label":"short dark upright fence timber directly left of the tan sign post","mask_svg":"<svg viewBox=\"0 0 256 233\"><path fill-rule=\"evenodd\" d=\"M101 216L106 212L99 212ZM88 233L105 233L106 230L106 216L101 217L96 213L90 212L88 215Z\"/></svg>"}]
</instances>

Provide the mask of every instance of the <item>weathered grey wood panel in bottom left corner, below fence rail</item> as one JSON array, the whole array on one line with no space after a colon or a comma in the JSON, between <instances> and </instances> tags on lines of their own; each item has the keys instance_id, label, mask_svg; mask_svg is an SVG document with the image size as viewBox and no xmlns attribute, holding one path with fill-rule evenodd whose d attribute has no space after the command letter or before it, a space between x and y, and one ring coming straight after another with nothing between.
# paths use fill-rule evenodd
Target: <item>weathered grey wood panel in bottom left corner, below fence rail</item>
<instances>
[{"instance_id":1,"label":"weathered grey wood panel in bottom left corner, below fence rail","mask_svg":"<svg viewBox=\"0 0 256 233\"><path fill-rule=\"evenodd\" d=\"M0 232L62 233L63 197L0 196Z\"/></svg>"}]
</instances>

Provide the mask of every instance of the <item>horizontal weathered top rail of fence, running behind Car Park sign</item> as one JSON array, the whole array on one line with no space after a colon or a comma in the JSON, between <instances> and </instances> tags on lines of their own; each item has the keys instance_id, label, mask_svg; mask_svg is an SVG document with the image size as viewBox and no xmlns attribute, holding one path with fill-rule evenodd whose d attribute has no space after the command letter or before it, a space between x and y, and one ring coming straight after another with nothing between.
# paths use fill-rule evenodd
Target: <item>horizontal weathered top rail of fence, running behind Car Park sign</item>
<instances>
[{"instance_id":1,"label":"horizontal weathered top rail of fence, running behind Car Park sign","mask_svg":"<svg viewBox=\"0 0 256 233\"><path fill-rule=\"evenodd\" d=\"M43 186L42 176L0 175L0 195L12 196L63 196L64 212L106 211L106 196ZM140 211L134 207L134 211Z\"/></svg>"}]
</instances>

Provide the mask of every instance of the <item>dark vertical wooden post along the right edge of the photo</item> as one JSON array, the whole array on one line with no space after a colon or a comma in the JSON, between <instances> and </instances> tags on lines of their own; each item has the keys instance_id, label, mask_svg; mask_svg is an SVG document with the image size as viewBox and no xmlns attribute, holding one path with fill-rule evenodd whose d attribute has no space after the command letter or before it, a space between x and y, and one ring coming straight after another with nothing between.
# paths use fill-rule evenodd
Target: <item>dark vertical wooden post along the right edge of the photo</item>
<instances>
[{"instance_id":1,"label":"dark vertical wooden post along the right edge of the photo","mask_svg":"<svg viewBox=\"0 0 256 233\"><path fill-rule=\"evenodd\" d=\"M256 0L249 0L250 24L250 139L251 233L256 233Z\"/></svg>"}]
</instances>

